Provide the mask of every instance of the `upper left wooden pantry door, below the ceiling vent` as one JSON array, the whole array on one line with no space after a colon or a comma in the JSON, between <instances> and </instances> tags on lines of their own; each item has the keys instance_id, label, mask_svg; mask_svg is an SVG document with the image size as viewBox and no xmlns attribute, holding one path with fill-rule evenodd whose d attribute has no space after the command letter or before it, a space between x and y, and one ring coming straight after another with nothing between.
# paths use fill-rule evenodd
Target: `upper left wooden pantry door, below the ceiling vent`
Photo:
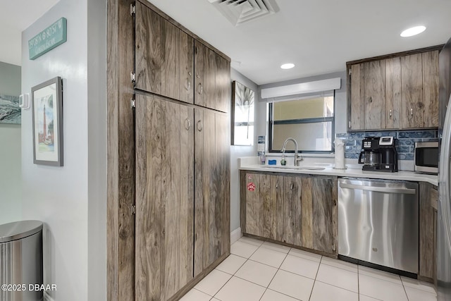
<instances>
[{"instance_id":1,"label":"upper left wooden pantry door, below the ceiling vent","mask_svg":"<svg viewBox=\"0 0 451 301\"><path fill-rule=\"evenodd\" d=\"M139 1L135 28L135 87L192 104L192 37Z\"/></svg>"}]
</instances>

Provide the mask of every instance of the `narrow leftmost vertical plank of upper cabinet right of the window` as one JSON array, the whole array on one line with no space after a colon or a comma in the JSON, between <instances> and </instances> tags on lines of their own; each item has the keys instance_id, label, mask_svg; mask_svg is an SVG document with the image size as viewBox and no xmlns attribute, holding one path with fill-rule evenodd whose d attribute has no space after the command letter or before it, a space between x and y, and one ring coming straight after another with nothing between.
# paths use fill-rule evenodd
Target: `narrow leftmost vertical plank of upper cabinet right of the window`
<instances>
[{"instance_id":1,"label":"narrow leftmost vertical plank of upper cabinet right of the window","mask_svg":"<svg viewBox=\"0 0 451 301\"><path fill-rule=\"evenodd\" d=\"M364 130L364 64L350 66L350 130Z\"/></svg>"}]
</instances>

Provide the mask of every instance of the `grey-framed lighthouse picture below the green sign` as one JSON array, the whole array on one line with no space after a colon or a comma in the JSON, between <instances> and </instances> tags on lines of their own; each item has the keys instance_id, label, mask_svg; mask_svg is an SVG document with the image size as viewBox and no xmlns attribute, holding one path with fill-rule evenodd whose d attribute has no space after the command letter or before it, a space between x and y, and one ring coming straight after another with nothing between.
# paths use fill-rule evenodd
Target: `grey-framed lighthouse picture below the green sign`
<instances>
[{"instance_id":1,"label":"grey-framed lighthouse picture below the green sign","mask_svg":"<svg viewBox=\"0 0 451 301\"><path fill-rule=\"evenodd\" d=\"M33 162L63 166L63 82L58 76L32 87Z\"/></svg>"}]
</instances>

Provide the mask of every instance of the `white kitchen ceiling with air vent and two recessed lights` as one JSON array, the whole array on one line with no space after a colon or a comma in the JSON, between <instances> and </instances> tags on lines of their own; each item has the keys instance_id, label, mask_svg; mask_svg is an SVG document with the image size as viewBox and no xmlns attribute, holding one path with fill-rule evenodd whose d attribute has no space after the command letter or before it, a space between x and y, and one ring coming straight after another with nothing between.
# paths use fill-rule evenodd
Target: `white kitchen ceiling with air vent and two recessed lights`
<instances>
[{"instance_id":1,"label":"white kitchen ceiling with air vent and two recessed lights","mask_svg":"<svg viewBox=\"0 0 451 301\"><path fill-rule=\"evenodd\" d=\"M149 0L232 59L257 85L345 70L371 56L444 44L450 0L276 0L280 11L235 27L208 0ZM402 38L414 25L426 31ZM281 70L282 63L295 63Z\"/></svg>"}]
</instances>

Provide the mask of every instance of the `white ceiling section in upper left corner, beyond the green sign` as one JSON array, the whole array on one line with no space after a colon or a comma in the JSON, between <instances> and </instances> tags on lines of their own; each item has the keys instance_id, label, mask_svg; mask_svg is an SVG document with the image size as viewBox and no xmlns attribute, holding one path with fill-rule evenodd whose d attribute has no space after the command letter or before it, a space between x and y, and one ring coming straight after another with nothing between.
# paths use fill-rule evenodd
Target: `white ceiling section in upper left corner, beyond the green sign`
<instances>
[{"instance_id":1,"label":"white ceiling section in upper left corner, beyond the green sign","mask_svg":"<svg viewBox=\"0 0 451 301\"><path fill-rule=\"evenodd\" d=\"M59 0L0 1L0 61L20 66L22 32Z\"/></svg>"}]
</instances>

